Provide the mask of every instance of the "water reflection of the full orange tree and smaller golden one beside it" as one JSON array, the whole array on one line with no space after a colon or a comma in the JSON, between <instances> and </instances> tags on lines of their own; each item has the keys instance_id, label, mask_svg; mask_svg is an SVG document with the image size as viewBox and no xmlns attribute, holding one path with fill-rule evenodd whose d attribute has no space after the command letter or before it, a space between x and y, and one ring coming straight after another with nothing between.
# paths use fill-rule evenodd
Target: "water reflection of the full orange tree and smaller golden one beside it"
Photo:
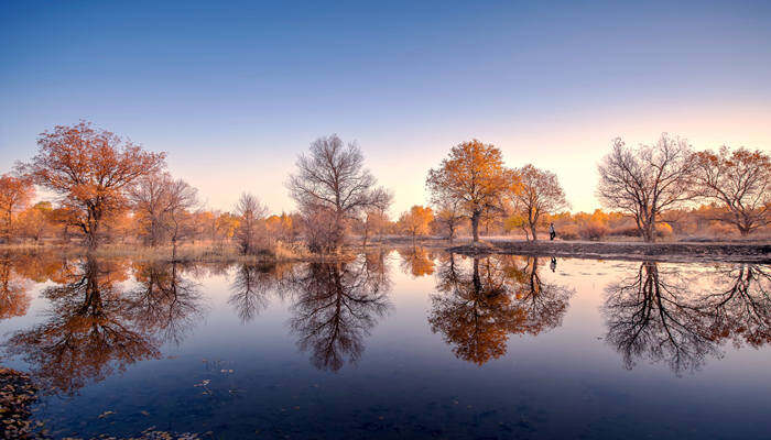
<instances>
[{"instance_id":1,"label":"water reflection of the full orange tree and smaller golden one beside it","mask_svg":"<svg viewBox=\"0 0 771 440\"><path fill-rule=\"evenodd\" d=\"M446 255L437 272L428 322L459 359L481 365L506 354L510 334L560 326L572 290L546 284L539 258L475 257L470 268Z\"/></svg>"}]
</instances>

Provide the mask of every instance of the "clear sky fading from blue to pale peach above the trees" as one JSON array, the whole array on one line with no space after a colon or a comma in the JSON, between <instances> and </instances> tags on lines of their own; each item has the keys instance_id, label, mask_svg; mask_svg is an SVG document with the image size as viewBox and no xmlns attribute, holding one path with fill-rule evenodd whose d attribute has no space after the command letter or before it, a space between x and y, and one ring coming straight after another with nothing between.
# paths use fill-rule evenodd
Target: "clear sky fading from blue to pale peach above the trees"
<instances>
[{"instance_id":1,"label":"clear sky fading from blue to pale peach above the trees","mask_svg":"<svg viewBox=\"0 0 771 440\"><path fill-rule=\"evenodd\" d=\"M769 1L3 0L0 173L85 119L167 152L208 208L290 211L297 155L337 133L398 215L478 139L593 211L616 136L771 150L769 23Z\"/></svg>"}]
</instances>

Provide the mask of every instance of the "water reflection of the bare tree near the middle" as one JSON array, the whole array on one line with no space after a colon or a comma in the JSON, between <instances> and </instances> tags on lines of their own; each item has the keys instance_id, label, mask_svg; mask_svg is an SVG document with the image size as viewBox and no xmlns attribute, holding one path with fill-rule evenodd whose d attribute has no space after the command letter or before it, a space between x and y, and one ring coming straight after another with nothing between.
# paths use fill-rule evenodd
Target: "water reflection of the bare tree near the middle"
<instances>
[{"instance_id":1,"label":"water reflection of the bare tree near the middle","mask_svg":"<svg viewBox=\"0 0 771 440\"><path fill-rule=\"evenodd\" d=\"M355 364L365 338L391 309L391 282L384 255L368 254L355 261L310 263L292 279L290 328L301 351L311 351L319 370L336 372Z\"/></svg>"}]
</instances>

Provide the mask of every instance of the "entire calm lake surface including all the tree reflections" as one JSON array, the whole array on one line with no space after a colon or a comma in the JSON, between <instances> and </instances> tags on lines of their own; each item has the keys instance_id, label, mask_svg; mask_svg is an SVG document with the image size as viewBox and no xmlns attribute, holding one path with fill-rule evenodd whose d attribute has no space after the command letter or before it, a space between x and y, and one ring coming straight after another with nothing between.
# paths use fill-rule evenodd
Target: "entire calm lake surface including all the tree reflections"
<instances>
[{"instance_id":1,"label":"entire calm lake surface including all the tree reflections","mask_svg":"<svg viewBox=\"0 0 771 440\"><path fill-rule=\"evenodd\" d=\"M771 438L769 266L4 255L0 282L56 437Z\"/></svg>"}]
</instances>

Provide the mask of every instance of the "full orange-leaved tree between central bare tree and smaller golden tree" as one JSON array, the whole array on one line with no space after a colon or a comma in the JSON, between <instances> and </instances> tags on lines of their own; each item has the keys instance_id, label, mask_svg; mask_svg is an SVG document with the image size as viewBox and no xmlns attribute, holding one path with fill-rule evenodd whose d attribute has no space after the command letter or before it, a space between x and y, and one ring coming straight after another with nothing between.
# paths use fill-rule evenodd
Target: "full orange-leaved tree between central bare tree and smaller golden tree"
<instances>
[{"instance_id":1,"label":"full orange-leaved tree between central bare tree and smaller golden tree","mask_svg":"<svg viewBox=\"0 0 771 440\"><path fill-rule=\"evenodd\" d=\"M426 187L434 204L460 204L464 215L471 219L477 243L482 212L500 207L502 195L512 184L511 177L500 150L473 140L454 146L438 168L428 170Z\"/></svg>"}]
</instances>

